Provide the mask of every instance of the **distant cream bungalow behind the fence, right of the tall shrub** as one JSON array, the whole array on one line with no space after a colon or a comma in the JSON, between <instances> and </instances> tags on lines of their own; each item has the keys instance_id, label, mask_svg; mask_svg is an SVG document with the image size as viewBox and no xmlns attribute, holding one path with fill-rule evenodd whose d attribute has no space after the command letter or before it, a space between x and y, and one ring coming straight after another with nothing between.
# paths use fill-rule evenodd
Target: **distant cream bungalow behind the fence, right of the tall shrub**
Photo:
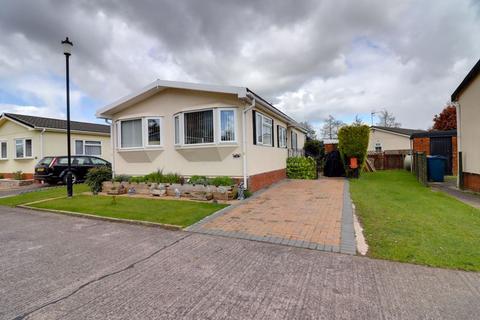
<instances>
[{"instance_id":1,"label":"distant cream bungalow behind the fence, right of the tall shrub","mask_svg":"<svg viewBox=\"0 0 480 320\"><path fill-rule=\"evenodd\" d=\"M412 149L410 138L414 133L423 133L425 130L393 128L393 127L370 127L370 139L368 141L369 152L395 151L407 154Z\"/></svg>"}]
</instances>

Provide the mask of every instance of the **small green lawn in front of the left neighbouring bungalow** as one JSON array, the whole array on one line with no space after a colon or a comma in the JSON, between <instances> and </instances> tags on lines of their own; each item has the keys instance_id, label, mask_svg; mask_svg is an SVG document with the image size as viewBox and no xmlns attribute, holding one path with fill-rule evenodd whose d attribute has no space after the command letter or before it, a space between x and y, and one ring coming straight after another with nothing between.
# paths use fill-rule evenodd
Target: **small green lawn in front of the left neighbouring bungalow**
<instances>
[{"instance_id":1,"label":"small green lawn in front of the left neighbouring bungalow","mask_svg":"<svg viewBox=\"0 0 480 320\"><path fill-rule=\"evenodd\" d=\"M88 186L85 184L73 185L73 193L80 193L89 191ZM67 195L67 187L59 186L54 188L39 189L32 192L27 192L18 196L0 198L0 205L14 207L19 204L33 202L37 200L62 197Z\"/></svg>"}]
</instances>

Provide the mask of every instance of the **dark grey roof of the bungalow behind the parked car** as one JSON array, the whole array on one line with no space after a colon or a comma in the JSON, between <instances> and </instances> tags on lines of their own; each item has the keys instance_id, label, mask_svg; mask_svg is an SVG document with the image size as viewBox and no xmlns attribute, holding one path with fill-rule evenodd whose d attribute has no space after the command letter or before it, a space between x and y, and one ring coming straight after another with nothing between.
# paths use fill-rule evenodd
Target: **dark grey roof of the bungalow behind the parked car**
<instances>
[{"instance_id":1,"label":"dark grey roof of the bungalow behind the parked car","mask_svg":"<svg viewBox=\"0 0 480 320\"><path fill-rule=\"evenodd\" d=\"M3 116L32 128L67 130L67 121L62 119L34 117L15 113L4 113ZM70 121L70 129L73 131L110 134L110 126L90 122Z\"/></svg>"}]
</instances>

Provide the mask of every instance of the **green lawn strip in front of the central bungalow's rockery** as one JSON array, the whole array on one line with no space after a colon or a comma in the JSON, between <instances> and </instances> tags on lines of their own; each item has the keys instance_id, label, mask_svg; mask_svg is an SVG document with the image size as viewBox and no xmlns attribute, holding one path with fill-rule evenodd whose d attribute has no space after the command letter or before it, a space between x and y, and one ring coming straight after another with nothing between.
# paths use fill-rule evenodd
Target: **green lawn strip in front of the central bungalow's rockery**
<instances>
[{"instance_id":1,"label":"green lawn strip in front of the central bungalow's rockery","mask_svg":"<svg viewBox=\"0 0 480 320\"><path fill-rule=\"evenodd\" d=\"M114 200L111 196L78 195L72 199L61 198L30 206L187 227L227 205L130 197L115 197Z\"/></svg>"}]
</instances>

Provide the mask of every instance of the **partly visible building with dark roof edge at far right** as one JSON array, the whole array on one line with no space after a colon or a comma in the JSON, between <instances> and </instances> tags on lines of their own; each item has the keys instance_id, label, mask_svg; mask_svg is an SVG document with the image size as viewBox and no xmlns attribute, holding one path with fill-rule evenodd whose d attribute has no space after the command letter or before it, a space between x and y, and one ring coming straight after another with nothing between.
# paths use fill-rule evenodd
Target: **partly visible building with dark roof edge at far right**
<instances>
[{"instance_id":1,"label":"partly visible building with dark roof edge at far right","mask_svg":"<svg viewBox=\"0 0 480 320\"><path fill-rule=\"evenodd\" d=\"M480 60L452 94L457 107L458 185L480 192Z\"/></svg>"}]
</instances>

